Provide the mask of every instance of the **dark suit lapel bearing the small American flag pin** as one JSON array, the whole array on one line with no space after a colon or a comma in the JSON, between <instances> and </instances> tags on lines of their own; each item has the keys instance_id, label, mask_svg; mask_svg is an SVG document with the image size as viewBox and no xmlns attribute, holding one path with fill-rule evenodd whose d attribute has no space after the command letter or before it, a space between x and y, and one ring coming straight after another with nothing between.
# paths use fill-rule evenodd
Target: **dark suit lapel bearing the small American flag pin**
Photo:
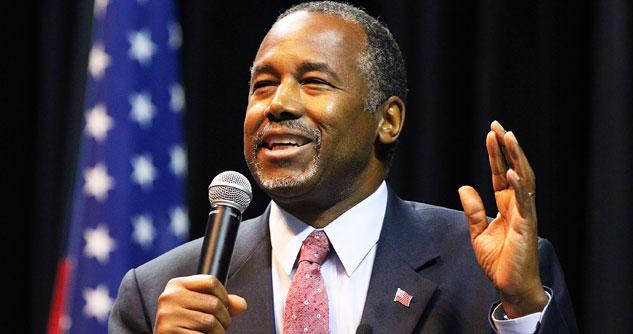
<instances>
[{"instance_id":1,"label":"dark suit lapel bearing the small American flag pin","mask_svg":"<svg viewBox=\"0 0 633 334\"><path fill-rule=\"evenodd\" d=\"M439 258L432 228L414 224L413 207L389 189L389 200L357 333L411 333L432 301L437 283L419 273ZM412 295L406 307L394 302L398 288Z\"/></svg>"}]
</instances>

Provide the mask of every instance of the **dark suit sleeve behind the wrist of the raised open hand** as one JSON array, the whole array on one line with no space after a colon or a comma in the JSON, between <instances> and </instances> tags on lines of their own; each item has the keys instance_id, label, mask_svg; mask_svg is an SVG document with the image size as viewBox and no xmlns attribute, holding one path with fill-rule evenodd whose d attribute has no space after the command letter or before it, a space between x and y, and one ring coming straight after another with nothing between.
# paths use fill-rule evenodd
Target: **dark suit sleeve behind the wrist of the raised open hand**
<instances>
[{"instance_id":1,"label":"dark suit sleeve behind the wrist of the raised open hand","mask_svg":"<svg viewBox=\"0 0 633 334\"><path fill-rule=\"evenodd\" d=\"M552 244L539 239L539 266L543 285L549 287L552 299L541 318L538 333L578 333L574 309L565 284L563 270Z\"/></svg>"}]
</instances>

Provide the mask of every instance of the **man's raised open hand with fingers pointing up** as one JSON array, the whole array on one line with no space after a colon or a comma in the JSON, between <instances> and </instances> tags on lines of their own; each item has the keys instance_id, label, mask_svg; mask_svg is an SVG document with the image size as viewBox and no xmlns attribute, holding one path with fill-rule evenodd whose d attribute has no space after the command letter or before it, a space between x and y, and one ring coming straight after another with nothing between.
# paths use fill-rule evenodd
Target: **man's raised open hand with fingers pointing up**
<instances>
[{"instance_id":1,"label":"man's raised open hand with fingers pointing up","mask_svg":"<svg viewBox=\"0 0 633 334\"><path fill-rule=\"evenodd\" d=\"M537 251L534 172L512 132L490 125L486 148L498 214L488 223L481 197L459 188L479 265L499 290L510 318L540 312L547 304Z\"/></svg>"}]
</instances>

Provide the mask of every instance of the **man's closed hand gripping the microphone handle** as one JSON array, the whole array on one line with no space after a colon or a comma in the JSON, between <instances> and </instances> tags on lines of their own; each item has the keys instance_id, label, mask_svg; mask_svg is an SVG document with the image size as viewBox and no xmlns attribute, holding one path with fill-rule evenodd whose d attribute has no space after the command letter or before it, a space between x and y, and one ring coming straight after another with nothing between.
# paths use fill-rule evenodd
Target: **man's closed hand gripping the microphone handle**
<instances>
[{"instance_id":1,"label":"man's closed hand gripping the microphone handle","mask_svg":"<svg viewBox=\"0 0 633 334\"><path fill-rule=\"evenodd\" d=\"M158 297L154 333L224 333L231 317L246 310L211 275L174 278Z\"/></svg>"}]
</instances>

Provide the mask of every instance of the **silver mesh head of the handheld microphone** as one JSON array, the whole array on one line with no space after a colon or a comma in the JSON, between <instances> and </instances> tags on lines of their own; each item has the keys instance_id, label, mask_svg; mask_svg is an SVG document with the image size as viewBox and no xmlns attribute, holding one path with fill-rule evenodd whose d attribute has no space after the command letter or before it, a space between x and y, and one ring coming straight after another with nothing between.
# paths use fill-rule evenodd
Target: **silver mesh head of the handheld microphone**
<instances>
[{"instance_id":1,"label":"silver mesh head of the handheld microphone","mask_svg":"<svg viewBox=\"0 0 633 334\"><path fill-rule=\"evenodd\" d=\"M226 205L236 208L240 213L251 204L253 191L248 179L234 171L226 171L213 178L209 185L211 206Z\"/></svg>"}]
</instances>

